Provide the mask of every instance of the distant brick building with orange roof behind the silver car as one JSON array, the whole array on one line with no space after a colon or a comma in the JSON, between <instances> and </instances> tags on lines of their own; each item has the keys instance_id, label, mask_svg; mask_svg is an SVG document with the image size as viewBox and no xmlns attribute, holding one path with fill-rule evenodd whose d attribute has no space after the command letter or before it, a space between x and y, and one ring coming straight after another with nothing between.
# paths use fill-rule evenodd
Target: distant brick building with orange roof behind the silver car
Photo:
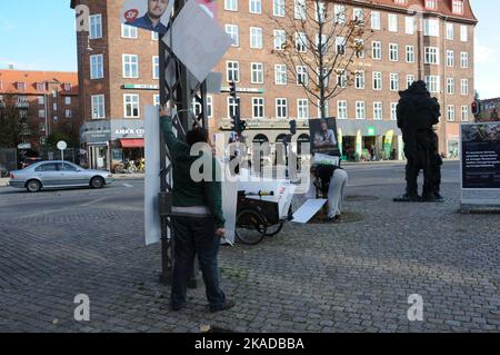
<instances>
[{"instance_id":1,"label":"distant brick building with orange roof behind the silver car","mask_svg":"<svg viewBox=\"0 0 500 355\"><path fill-rule=\"evenodd\" d=\"M20 149L37 150L54 131L78 135L80 129L77 72L0 70L0 106L8 105L16 106L19 118L36 130L26 135Z\"/></svg>"}]
</instances>

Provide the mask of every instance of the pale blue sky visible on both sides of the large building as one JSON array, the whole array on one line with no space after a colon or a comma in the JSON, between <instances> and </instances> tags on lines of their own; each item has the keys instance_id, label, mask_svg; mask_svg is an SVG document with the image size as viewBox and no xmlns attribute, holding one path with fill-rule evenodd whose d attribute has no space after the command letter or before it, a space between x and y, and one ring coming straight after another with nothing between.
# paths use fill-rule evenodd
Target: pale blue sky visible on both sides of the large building
<instances>
[{"instance_id":1,"label":"pale blue sky visible on both sides of the large building","mask_svg":"<svg viewBox=\"0 0 500 355\"><path fill-rule=\"evenodd\" d=\"M476 89L481 98L500 97L500 1L471 2L479 19ZM0 0L0 68L76 71L74 12L69 3Z\"/></svg>"}]
</instances>

